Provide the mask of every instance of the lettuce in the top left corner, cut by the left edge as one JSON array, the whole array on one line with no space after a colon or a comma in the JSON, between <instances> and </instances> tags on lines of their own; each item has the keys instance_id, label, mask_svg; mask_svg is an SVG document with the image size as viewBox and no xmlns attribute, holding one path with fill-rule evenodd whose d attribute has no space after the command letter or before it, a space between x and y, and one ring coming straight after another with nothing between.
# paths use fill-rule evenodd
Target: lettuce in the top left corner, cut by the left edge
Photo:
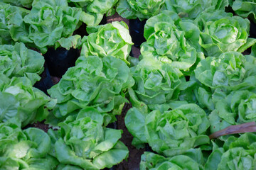
<instances>
[{"instance_id":1,"label":"lettuce in the top left corner, cut by the left edge","mask_svg":"<svg viewBox=\"0 0 256 170\"><path fill-rule=\"evenodd\" d=\"M0 2L0 44L11 44L13 42L31 43L28 38L28 24L23 18L30 11L18 6L11 6Z\"/></svg>"}]
</instances>

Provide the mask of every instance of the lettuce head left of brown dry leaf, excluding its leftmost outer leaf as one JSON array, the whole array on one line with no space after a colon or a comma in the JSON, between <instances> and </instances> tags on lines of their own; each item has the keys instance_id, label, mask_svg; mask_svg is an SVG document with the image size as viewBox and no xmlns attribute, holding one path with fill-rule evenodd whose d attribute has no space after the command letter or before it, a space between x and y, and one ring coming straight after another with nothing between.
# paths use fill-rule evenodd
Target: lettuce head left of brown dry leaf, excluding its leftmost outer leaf
<instances>
[{"instance_id":1,"label":"lettuce head left of brown dry leaf, excluding its leftmost outer leaf","mask_svg":"<svg viewBox=\"0 0 256 170\"><path fill-rule=\"evenodd\" d=\"M172 111L153 111L146 116L145 134L151 148L168 157L210 142L206 134L210 123L196 104L182 105Z\"/></svg>"}]
</instances>

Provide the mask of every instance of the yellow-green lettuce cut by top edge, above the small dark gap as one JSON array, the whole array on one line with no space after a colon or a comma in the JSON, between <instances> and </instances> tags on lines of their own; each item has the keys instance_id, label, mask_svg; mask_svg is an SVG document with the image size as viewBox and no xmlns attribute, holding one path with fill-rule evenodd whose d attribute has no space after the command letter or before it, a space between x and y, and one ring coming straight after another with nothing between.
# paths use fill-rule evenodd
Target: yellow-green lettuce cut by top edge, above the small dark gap
<instances>
[{"instance_id":1,"label":"yellow-green lettuce cut by top edge, above the small dark gap","mask_svg":"<svg viewBox=\"0 0 256 170\"><path fill-rule=\"evenodd\" d=\"M127 19L148 19L159 14L164 0L120 0L117 4L117 13Z\"/></svg>"}]
</instances>

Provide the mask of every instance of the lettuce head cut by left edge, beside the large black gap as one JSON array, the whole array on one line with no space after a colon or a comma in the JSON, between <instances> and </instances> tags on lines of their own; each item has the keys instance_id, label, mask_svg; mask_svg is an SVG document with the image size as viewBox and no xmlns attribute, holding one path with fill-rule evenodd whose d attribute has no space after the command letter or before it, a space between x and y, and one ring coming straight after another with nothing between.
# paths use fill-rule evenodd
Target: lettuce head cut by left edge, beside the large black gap
<instances>
[{"instance_id":1,"label":"lettuce head cut by left edge, beside the large black gap","mask_svg":"<svg viewBox=\"0 0 256 170\"><path fill-rule=\"evenodd\" d=\"M28 50L23 43L0 45L0 74L12 77L27 77L32 85L39 81L43 72L43 56Z\"/></svg>"}]
</instances>

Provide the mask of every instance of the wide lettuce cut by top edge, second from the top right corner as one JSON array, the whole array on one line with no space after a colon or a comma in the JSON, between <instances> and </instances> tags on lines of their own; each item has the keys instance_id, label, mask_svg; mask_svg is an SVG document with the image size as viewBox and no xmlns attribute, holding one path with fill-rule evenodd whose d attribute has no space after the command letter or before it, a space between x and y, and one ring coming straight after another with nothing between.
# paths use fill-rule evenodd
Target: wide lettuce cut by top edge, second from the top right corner
<instances>
[{"instance_id":1,"label":"wide lettuce cut by top edge, second from the top right corner","mask_svg":"<svg viewBox=\"0 0 256 170\"><path fill-rule=\"evenodd\" d=\"M228 0L166 0L162 10L173 11L182 18L196 18L203 11L213 12L216 10L225 10L228 6Z\"/></svg>"}]
</instances>

